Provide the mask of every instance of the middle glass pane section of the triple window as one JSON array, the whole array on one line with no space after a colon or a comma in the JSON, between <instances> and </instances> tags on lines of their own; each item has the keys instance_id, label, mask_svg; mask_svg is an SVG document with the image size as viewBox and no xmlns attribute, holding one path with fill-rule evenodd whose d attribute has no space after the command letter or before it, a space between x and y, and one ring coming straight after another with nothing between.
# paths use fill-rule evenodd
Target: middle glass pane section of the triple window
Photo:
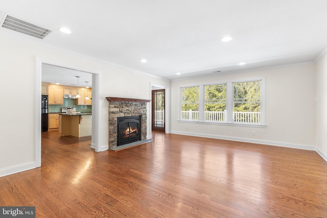
<instances>
[{"instance_id":1,"label":"middle glass pane section of the triple window","mask_svg":"<svg viewBox=\"0 0 327 218\"><path fill-rule=\"evenodd\" d=\"M226 84L204 86L204 119L225 121Z\"/></svg>"}]
</instances>

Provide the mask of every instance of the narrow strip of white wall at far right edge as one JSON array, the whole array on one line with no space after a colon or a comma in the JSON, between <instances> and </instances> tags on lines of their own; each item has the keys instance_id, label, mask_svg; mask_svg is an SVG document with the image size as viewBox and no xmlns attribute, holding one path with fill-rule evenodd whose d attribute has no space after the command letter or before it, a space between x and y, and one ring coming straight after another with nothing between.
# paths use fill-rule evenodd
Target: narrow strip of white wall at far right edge
<instances>
[{"instance_id":1,"label":"narrow strip of white wall at far right edge","mask_svg":"<svg viewBox=\"0 0 327 218\"><path fill-rule=\"evenodd\" d=\"M327 55L316 64L316 146L327 161Z\"/></svg>"}]
</instances>

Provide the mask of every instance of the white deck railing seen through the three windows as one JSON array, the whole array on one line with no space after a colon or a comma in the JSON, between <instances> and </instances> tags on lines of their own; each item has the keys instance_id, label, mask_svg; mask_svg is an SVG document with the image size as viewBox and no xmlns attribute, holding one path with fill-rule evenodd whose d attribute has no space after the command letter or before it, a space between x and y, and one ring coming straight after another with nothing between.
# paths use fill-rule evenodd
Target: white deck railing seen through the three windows
<instances>
[{"instance_id":1,"label":"white deck railing seen through the three windows","mask_svg":"<svg viewBox=\"0 0 327 218\"><path fill-rule=\"evenodd\" d=\"M181 119L197 120L199 111L181 111ZM226 120L226 111L205 111L204 120L220 121ZM233 112L233 120L238 123L261 123L261 112Z\"/></svg>"}]
</instances>

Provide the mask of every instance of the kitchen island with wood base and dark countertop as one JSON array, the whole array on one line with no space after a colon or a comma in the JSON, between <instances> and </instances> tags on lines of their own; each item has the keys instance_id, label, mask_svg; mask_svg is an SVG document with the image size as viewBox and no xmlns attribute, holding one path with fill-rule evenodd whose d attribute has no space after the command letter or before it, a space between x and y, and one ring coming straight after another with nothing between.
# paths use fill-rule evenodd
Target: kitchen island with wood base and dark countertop
<instances>
[{"instance_id":1,"label":"kitchen island with wood base and dark countertop","mask_svg":"<svg viewBox=\"0 0 327 218\"><path fill-rule=\"evenodd\" d=\"M60 113L59 133L75 137L92 135L92 113Z\"/></svg>"}]
</instances>

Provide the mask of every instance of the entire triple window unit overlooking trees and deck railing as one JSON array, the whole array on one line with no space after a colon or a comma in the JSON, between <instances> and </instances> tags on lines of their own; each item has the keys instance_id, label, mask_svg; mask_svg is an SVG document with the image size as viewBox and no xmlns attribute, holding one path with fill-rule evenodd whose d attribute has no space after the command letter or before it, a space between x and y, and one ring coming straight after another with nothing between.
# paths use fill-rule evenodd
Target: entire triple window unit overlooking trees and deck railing
<instances>
[{"instance_id":1,"label":"entire triple window unit overlooking trees and deck railing","mask_svg":"<svg viewBox=\"0 0 327 218\"><path fill-rule=\"evenodd\" d=\"M181 87L180 119L265 124L265 79Z\"/></svg>"}]
</instances>

